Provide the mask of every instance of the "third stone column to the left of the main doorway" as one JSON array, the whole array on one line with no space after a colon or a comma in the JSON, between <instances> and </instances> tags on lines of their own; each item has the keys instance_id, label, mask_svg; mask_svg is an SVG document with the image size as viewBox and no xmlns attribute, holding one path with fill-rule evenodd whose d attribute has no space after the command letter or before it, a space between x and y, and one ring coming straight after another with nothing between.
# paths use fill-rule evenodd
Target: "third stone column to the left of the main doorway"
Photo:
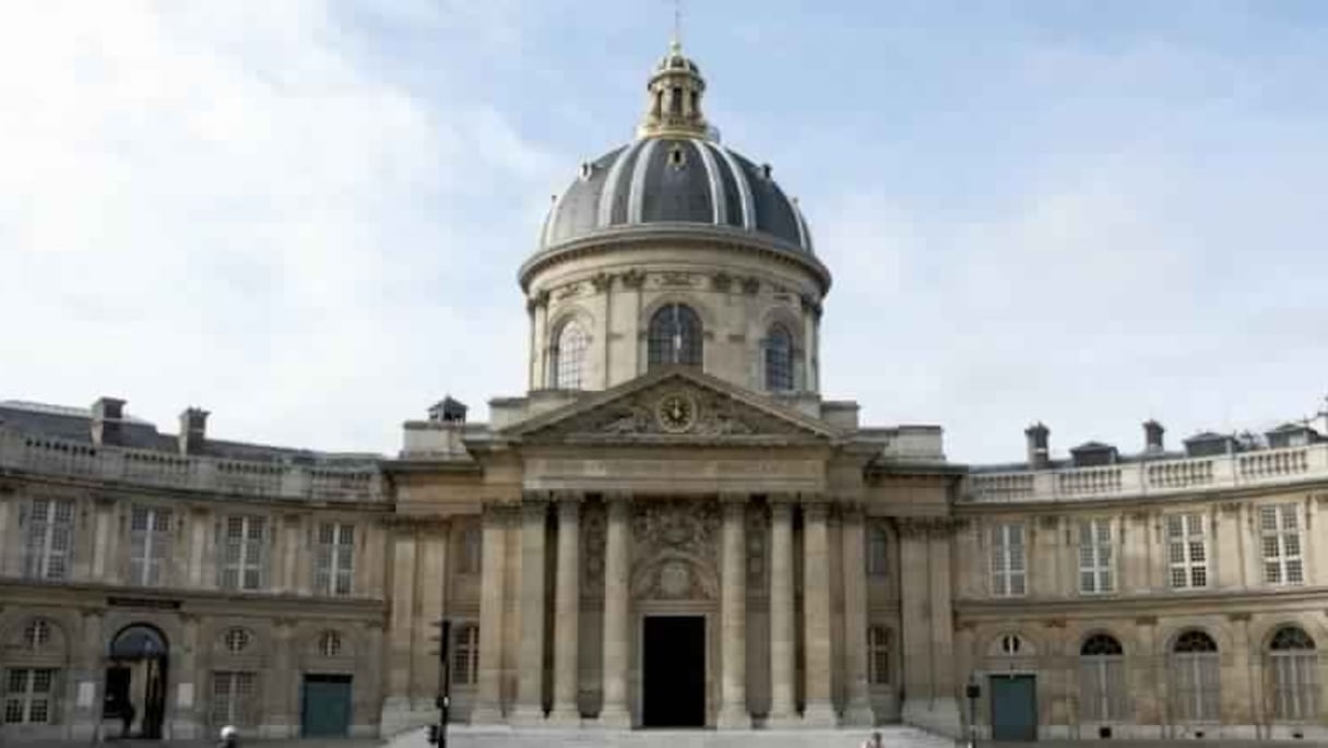
<instances>
[{"instance_id":1,"label":"third stone column to the left of the main doorway","mask_svg":"<svg viewBox=\"0 0 1328 748\"><path fill-rule=\"evenodd\" d=\"M544 720L544 522L548 501L529 493L521 505L521 647L513 721Z\"/></svg>"}]
</instances>

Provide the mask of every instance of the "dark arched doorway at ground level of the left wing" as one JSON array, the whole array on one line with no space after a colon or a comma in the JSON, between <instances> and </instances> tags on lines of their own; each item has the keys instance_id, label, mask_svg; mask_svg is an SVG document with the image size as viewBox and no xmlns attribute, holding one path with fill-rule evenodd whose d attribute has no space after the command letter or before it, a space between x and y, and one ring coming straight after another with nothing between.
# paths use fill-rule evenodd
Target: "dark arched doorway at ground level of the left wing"
<instances>
[{"instance_id":1,"label":"dark arched doorway at ground level of the left wing","mask_svg":"<svg viewBox=\"0 0 1328 748\"><path fill-rule=\"evenodd\" d=\"M122 737L162 736L169 659L166 636L155 626L134 623L110 640L102 715L120 720Z\"/></svg>"}]
</instances>

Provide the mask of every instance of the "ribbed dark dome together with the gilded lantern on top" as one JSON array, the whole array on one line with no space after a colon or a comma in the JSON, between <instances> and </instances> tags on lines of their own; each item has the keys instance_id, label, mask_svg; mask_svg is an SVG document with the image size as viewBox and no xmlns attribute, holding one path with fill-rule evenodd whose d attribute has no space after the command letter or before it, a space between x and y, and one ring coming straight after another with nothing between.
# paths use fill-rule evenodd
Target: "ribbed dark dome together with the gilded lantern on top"
<instances>
[{"instance_id":1,"label":"ribbed dark dome together with the gilded lantern on top","mask_svg":"<svg viewBox=\"0 0 1328 748\"><path fill-rule=\"evenodd\" d=\"M582 165L578 179L554 198L539 252L600 234L683 225L811 255L806 221L770 167L721 145L706 124L705 78L676 39L645 88L636 140Z\"/></svg>"}]
</instances>

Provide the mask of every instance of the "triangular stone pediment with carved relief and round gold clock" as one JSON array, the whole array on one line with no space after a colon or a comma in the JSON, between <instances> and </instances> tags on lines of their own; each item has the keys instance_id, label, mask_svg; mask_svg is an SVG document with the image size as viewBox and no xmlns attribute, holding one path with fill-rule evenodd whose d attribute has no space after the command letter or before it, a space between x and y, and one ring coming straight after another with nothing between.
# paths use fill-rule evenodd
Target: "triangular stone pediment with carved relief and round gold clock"
<instances>
[{"instance_id":1,"label":"triangular stone pediment with carved relief and round gold clock","mask_svg":"<svg viewBox=\"0 0 1328 748\"><path fill-rule=\"evenodd\" d=\"M534 442L831 441L819 419L716 377L672 368L503 429Z\"/></svg>"}]
</instances>

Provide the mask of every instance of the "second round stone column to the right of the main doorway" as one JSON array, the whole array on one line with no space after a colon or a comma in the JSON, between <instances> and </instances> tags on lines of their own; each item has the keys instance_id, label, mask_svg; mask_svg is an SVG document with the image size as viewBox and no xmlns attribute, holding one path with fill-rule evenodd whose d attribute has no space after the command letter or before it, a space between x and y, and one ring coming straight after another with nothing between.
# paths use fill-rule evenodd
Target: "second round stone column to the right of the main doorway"
<instances>
[{"instance_id":1,"label":"second round stone column to the right of the main doorway","mask_svg":"<svg viewBox=\"0 0 1328 748\"><path fill-rule=\"evenodd\" d=\"M770 501L770 727L798 721L793 703L793 505Z\"/></svg>"}]
</instances>

